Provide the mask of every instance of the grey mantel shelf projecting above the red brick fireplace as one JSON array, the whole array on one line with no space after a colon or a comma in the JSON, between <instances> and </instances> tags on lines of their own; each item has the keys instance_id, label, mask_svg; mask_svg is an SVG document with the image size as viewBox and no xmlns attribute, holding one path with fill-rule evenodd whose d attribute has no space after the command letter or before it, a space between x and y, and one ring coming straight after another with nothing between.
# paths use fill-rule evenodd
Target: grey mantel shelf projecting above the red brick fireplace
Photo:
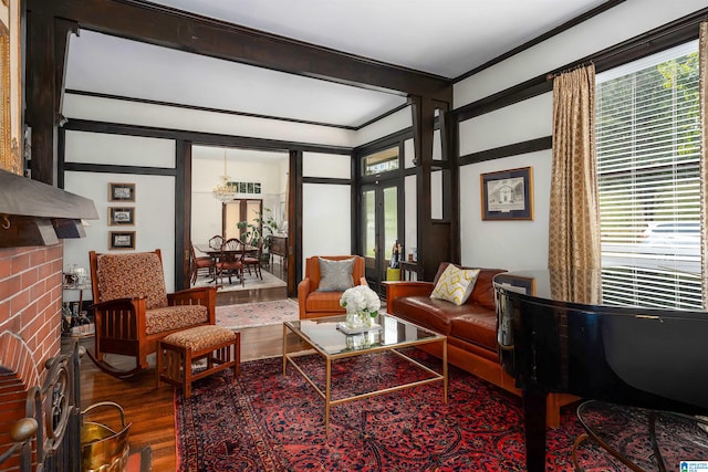
<instances>
[{"instance_id":1,"label":"grey mantel shelf projecting above the red brick fireplace","mask_svg":"<svg viewBox=\"0 0 708 472\"><path fill-rule=\"evenodd\" d=\"M0 248L83 238L82 220L97 219L93 200L0 169Z\"/></svg>"}]
</instances>

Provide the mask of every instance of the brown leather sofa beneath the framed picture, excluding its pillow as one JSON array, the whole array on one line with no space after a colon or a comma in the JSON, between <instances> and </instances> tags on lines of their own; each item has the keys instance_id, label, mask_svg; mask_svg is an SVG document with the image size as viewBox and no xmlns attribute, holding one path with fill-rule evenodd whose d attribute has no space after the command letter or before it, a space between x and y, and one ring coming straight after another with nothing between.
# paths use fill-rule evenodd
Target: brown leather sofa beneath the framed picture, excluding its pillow
<instances>
[{"instance_id":1,"label":"brown leather sofa beneath the framed picture, excluding its pillow","mask_svg":"<svg viewBox=\"0 0 708 472\"><path fill-rule=\"evenodd\" d=\"M384 282L386 311L446 335L450 364L520 396L521 390L516 388L513 378L499 364L497 345L497 305L492 280L506 271L481 269L467 302L456 306L445 300L430 298L447 265L447 262L440 264L434 282ZM429 349L440 355L437 345ZM575 400L577 398L570 395L549 395L548 424L558 427L560 407Z\"/></svg>"}]
</instances>

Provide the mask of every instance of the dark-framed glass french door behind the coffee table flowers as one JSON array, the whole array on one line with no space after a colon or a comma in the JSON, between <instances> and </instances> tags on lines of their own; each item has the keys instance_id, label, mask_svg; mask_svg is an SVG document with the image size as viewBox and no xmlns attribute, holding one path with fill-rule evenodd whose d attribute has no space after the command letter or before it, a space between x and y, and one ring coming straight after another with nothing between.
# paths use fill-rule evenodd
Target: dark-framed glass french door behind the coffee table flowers
<instances>
[{"instance_id":1,"label":"dark-framed glass french door behind the coffee table flowers","mask_svg":"<svg viewBox=\"0 0 708 472\"><path fill-rule=\"evenodd\" d=\"M369 286L383 293L382 281L399 230L398 180L365 183L361 188L361 239Z\"/></svg>"}]
</instances>

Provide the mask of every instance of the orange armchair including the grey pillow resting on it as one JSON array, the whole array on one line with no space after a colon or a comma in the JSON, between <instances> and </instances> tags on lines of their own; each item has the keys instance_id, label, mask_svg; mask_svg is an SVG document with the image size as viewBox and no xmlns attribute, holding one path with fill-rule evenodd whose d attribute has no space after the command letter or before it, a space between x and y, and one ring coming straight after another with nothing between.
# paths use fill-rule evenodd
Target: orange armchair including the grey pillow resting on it
<instances>
[{"instance_id":1,"label":"orange armchair including the grey pillow resting on it","mask_svg":"<svg viewBox=\"0 0 708 472\"><path fill-rule=\"evenodd\" d=\"M345 270L346 268L351 269ZM298 285L300 318L317 318L346 313L340 306L340 298L346 287L354 285L368 285L364 276L364 258L361 255L308 258L305 276Z\"/></svg>"}]
</instances>

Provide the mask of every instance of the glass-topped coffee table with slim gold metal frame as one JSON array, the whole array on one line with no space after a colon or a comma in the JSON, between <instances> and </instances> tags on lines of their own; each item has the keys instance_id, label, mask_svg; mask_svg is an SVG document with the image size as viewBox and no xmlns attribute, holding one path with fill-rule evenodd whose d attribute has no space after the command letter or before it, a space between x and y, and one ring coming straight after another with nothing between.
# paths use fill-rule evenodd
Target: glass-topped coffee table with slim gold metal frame
<instances>
[{"instance_id":1,"label":"glass-topped coffee table with slim gold metal frame","mask_svg":"<svg viewBox=\"0 0 708 472\"><path fill-rule=\"evenodd\" d=\"M330 407L344 403L346 401L360 400L376 395L388 394L391 391L412 388L430 382L442 382L442 401L447 403L447 337L425 329L420 326L397 318L393 315L381 314L374 321L381 326L376 331L360 334L344 334L337 329L337 323L344 322L345 316L327 316L324 318L299 319L283 323L283 376L290 363L324 399L324 430L330 430ZM294 334L289 336L289 332ZM300 347L302 344L306 349L289 352L290 340L298 339ZM424 344L439 343L442 353L441 373L438 373L417 360L403 354L399 349L404 347L420 346ZM324 359L324 391L298 364L298 358L316 352ZM396 385L365 394L353 395L345 398L332 399L332 363L354 356L363 356L377 352L392 352L406 359L410 364L430 374L430 377Z\"/></svg>"}]
</instances>

